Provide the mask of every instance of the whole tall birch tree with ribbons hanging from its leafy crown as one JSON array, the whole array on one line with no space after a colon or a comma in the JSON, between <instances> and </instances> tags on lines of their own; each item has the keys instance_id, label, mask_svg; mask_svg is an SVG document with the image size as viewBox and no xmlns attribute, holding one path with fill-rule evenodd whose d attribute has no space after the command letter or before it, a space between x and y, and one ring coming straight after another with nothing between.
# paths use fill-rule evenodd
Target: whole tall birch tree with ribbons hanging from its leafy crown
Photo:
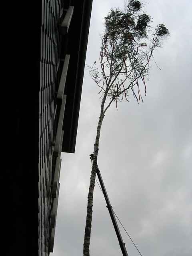
<instances>
[{"instance_id":1,"label":"whole tall birch tree with ribbons hanging from its leafy crown","mask_svg":"<svg viewBox=\"0 0 192 256\"><path fill-rule=\"evenodd\" d=\"M162 39L169 31L164 24L159 24L151 32L152 18L142 12L142 4L129 0L122 11L111 9L105 17L105 30L101 38L99 66L96 62L89 67L89 72L100 88L101 108L93 151L93 165L88 192L87 216L84 234L84 256L89 256L93 193L97 171L99 140L102 122L112 102L128 101L132 92L137 103L142 99L140 84L146 95L146 77L149 74L149 62L156 48L161 47Z\"/></svg>"}]
</instances>

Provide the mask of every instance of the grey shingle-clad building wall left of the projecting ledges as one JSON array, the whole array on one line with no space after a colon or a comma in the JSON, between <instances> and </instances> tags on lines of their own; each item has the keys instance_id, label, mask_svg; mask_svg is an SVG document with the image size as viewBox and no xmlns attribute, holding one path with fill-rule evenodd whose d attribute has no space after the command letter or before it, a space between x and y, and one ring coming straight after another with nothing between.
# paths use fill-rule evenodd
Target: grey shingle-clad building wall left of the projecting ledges
<instances>
[{"instance_id":1,"label":"grey shingle-clad building wall left of the projecting ledges","mask_svg":"<svg viewBox=\"0 0 192 256\"><path fill-rule=\"evenodd\" d=\"M52 207L57 204L57 198L52 198L51 194L57 159L53 156L53 152L61 107L57 104L56 95L63 64L59 60L62 42L59 26L65 15L63 8L69 3L70 1L67 0L42 0L39 88L39 256L48 256L53 250L51 236L54 229L53 224L51 227L51 212ZM60 160L60 155L58 158ZM52 218L52 222L53 220Z\"/></svg>"}]
</instances>

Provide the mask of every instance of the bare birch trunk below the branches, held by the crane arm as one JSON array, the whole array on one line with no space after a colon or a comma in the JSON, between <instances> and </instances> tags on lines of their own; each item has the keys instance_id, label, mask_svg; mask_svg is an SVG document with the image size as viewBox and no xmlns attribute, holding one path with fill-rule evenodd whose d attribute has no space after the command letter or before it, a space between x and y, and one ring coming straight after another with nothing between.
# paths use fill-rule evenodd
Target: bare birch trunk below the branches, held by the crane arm
<instances>
[{"instance_id":1,"label":"bare birch trunk below the branches, held by the crane arm","mask_svg":"<svg viewBox=\"0 0 192 256\"><path fill-rule=\"evenodd\" d=\"M86 216L86 226L85 226L85 236L84 236L84 244L83 244L83 255L90 256L89 254L89 245L90 245L90 237L91 237L91 223L92 223L92 212L93 212L93 192L95 186L95 178L96 178L96 170L97 170L97 156L99 150L99 138L100 138L100 131L101 125L104 118L102 114L99 118L98 126L97 126L97 135L94 144L94 152L93 152L93 166L90 178L90 185L89 185L89 193L88 193L88 200L87 200L87 216Z\"/></svg>"}]
</instances>

